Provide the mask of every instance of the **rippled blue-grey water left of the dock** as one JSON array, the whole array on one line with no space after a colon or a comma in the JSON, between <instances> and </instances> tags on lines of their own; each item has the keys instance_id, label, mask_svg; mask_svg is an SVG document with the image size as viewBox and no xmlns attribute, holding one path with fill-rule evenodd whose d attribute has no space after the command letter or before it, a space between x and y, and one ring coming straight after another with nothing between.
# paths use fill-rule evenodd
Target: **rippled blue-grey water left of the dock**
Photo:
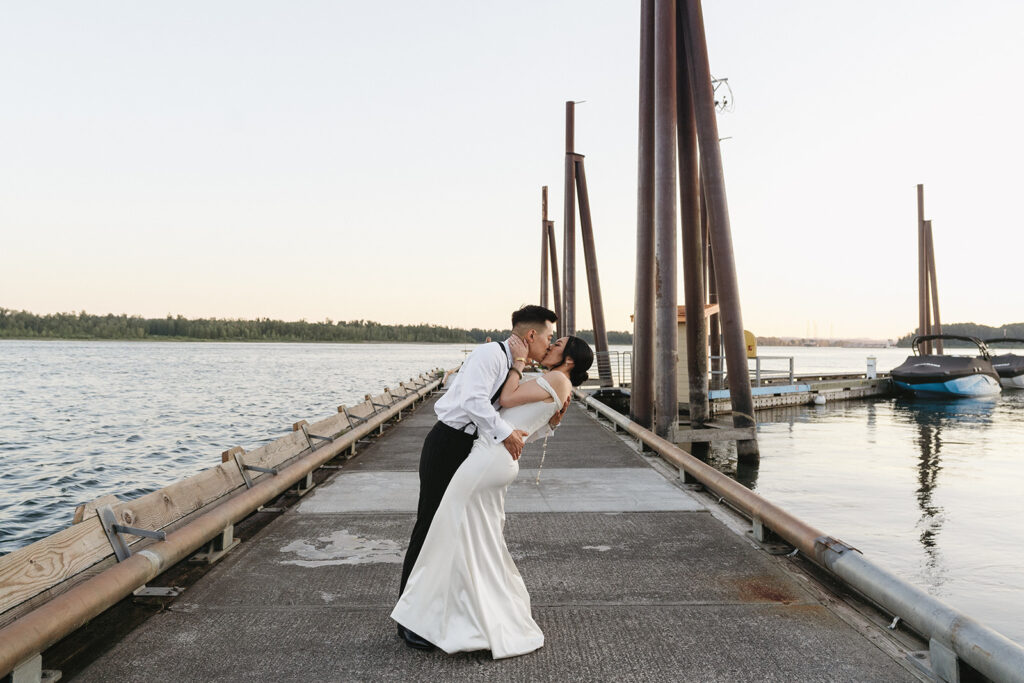
<instances>
[{"instance_id":1,"label":"rippled blue-grey water left of the dock","mask_svg":"<svg viewBox=\"0 0 1024 683\"><path fill-rule=\"evenodd\" d=\"M0 341L0 554L465 354L453 344Z\"/></svg>"}]
</instances>

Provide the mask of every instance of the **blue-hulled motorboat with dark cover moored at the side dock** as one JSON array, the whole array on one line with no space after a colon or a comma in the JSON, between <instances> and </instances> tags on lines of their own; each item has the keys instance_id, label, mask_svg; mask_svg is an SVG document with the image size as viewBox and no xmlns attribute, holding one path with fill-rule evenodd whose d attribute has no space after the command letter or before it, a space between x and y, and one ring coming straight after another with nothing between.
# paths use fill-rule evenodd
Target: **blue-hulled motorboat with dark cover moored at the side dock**
<instances>
[{"instance_id":1,"label":"blue-hulled motorboat with dark cover moored at the side dock","mask_svg":"<svg viewBox=\"0 0 1024 683\"><path fill-rule=\"evenodd\" d=\"M970 342L978 347L978 354L923 354L921 344L934 339ZM910 346L913 355L891 373L899 391L925 398L978 398L994 396L1001 390L988 347L977 337L922 335L914 337Z\"/></svg>"}]
</instances>

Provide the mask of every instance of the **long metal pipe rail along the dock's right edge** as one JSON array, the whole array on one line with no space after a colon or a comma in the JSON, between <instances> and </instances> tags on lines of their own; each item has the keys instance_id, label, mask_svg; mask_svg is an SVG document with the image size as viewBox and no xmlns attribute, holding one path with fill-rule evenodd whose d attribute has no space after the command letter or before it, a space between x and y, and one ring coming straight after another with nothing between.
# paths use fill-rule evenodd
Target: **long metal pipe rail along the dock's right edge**
<instances>
[{"instance_id":1,"label":"long metal pipe rail along the dock's right edge","mask_svg":"<svg viewBox=\"0 0 1024 683\"><path fill-rule=\"evenodd\" d=\"M684 470L751 519L760 521L815 563L928 638L933 671L940 676L948 673L942 676L944 680L958 680L955 666L959 657L993 681L1024 683L1024 647L872 563L856 548L826 536L769 503L586 392L575 389L574 394L666 461Z\"/></svg>"}]
</instances>

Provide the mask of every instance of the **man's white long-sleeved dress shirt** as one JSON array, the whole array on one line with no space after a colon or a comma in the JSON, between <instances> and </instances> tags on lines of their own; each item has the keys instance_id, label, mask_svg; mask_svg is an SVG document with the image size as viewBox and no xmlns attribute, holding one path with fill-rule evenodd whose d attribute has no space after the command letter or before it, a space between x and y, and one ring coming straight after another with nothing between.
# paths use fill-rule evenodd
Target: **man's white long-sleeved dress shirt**
<instances>
[{"instance_id":1,"label":"man's white long-sleeved dress shirt","mask_svg":"<svg viewBox=\"0 0 1024 683\"><path fill-rule=\"evenodd\" d=\"M475 433L490 442L504 441L512 425L502 420L490 402L512 367L508 340L480 344L466 356L447 391L434 403L437 419L460 431ZM518 379L518 378L517 378Z\"/></svg>"}]
</instances>

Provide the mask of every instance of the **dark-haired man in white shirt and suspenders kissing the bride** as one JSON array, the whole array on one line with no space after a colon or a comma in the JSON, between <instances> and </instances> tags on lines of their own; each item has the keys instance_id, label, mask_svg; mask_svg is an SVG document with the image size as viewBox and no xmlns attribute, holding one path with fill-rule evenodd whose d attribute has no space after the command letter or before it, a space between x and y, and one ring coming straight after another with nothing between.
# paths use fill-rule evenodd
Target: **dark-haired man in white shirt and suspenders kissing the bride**
<instances>
[{"instance_id":1,"label":"dark-haired man in white shirt and suspenders kissing the bride","mask_svg":"<svg viewBox=\"0 0 1024 683\"><path fill-rule=\"evenodd\" d=\"M447 391L434 404L437 422L427 434L420 454L420 501L401 567L399 595L406 590L406 582L416 565L441 498L456 470L469 456L473 441L477 438L501 441L509 457L519 459L527 434L502 420L498 414L498 397L510 370L518 373L517 379L521 379L527 358L540 360L544 357L557 319L554 311L544 306L523 306L512 313L512 335L504 342L481 344L473 349ZM551 427L558 425L567 405L568 401L551 418ZM400 624L398 635L410 647L433 648Z\"/></svg>"}]
</instances>

